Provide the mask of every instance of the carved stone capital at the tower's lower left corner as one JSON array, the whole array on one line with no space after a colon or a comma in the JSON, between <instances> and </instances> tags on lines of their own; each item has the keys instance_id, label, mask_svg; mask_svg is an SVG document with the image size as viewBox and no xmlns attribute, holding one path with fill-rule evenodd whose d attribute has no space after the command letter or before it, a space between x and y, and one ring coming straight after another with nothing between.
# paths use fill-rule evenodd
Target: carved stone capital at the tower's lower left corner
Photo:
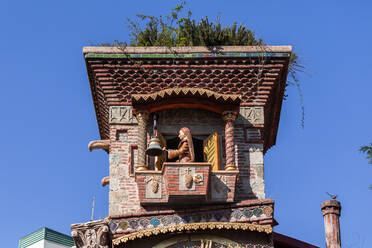
<instances>
[{"instance_id":1,"label":"carved stone capital at the tower's lower left corner","mask_svg":"<svg viewBox=\"0 0 372 248\"><path fill-rule=\"evenodd\" d=\"M105 220L71 225L71 236L77 248L109 248L109 227Z\"/></svg>"}]
</instances>

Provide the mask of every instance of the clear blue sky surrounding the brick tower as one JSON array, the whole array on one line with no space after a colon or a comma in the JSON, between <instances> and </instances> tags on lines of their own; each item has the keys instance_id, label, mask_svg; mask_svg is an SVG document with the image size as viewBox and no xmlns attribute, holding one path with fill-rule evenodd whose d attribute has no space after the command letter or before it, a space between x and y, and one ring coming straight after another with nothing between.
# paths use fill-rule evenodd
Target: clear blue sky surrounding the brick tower
<instances>
[{"instance_id":1,"label":"clear blue sky surrounding the brick tower","mask_svg":"<svg viewBox=\"0 0 372 248\"><path fill-rule=\"evenodd\" d=\"M158 15L176 1L0 2L1 247L47 226L108 212L108 156L89 153L99 138L82 47L128 40L126 18ZM324 247L320 204L342 203L343 247L371 247L372 166L358 149L372 142L370 1L190 0L196 18L222 14L247 24L271 45L293 45L306 66L289 88L277 145L265 156L267 196L276 232Z\"/></svg>"}]
</instances>

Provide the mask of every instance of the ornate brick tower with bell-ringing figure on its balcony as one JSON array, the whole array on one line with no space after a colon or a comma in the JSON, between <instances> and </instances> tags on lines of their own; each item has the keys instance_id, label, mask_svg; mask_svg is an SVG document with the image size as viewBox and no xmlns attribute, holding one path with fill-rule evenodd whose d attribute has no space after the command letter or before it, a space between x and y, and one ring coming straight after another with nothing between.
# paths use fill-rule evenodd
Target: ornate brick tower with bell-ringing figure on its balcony
<instances>
[{"instance_id":1,"label":"ornate brick tower with bell-ringing figure on its balcony","mask_svg":"<svg viewBox=\"0 0 372 248\"><path fill-rule=\"evenodd\" d=\"M105 220L71 226L77 247L274 247L263 156L291 47L83 53L110 190Z\"/></svg>"}]
</instances>

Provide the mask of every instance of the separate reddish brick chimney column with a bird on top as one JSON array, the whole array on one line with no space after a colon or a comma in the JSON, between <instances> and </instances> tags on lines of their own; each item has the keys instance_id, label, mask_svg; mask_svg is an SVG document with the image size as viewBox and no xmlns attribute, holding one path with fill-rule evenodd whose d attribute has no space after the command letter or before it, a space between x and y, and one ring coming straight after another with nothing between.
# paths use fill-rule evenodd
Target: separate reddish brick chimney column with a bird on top
<instances>
[{"instance_id":1,"label":"separate reddish brick chimney column with a bird on top","mask_svg":"<svg viewBox=\"0 0 372 248\"><path fill-rule=\"evenodd\" d=\"M322 203L327 248L341 248L340 220L341 204L336 200Z\"/></svg>"}]
</instances>

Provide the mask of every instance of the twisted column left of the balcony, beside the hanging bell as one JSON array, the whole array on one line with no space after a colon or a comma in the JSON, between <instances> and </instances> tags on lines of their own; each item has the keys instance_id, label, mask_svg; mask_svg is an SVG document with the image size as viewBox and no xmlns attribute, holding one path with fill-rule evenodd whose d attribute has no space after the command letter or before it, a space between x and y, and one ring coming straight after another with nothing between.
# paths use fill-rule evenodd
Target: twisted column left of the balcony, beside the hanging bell
<instances>
[{"instance_id":1,"label":"twisted column left of the balcony, beside the hanging bell","mask_svg":"<svg viewBox=\"0 0 372 248\"><path fill-rule=\"evenodd\" d=\"M149 113L147 111L138 111L136 114L138 120L138 164L136 170L147 170L146 164L146 146L147 146L147 120Z\"/></svg>"}]
</instances>

